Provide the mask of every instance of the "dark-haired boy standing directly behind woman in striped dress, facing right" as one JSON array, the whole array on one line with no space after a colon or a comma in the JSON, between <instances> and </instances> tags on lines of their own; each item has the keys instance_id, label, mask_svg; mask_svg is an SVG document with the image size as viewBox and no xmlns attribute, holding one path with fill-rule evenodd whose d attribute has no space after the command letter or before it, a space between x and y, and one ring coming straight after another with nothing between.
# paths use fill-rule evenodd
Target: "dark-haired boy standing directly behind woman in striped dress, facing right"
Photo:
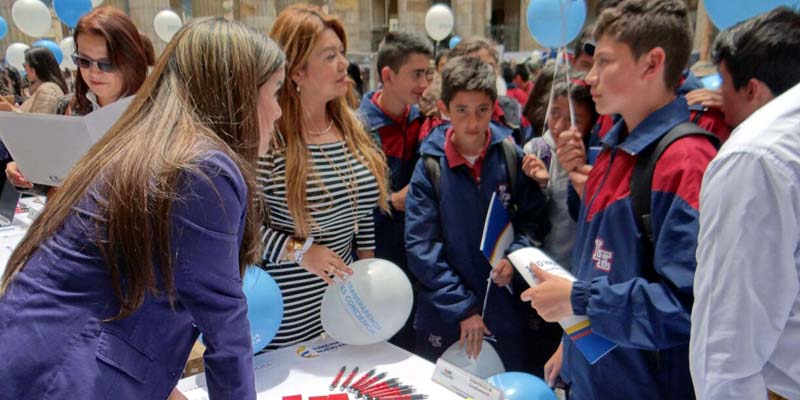
<instances>
[{"instance_id":1,"label":"dark-haired boy standing directly behind woman in striped dress, facing right","mask_svg":"<svg viewBox=\"0 0 800 400\"><path fill-rule=\"evenodd\" d=\"M417 161L424 116L416 103L428 87L425 72L433 57L428 40L409 32L389 32L381 43L377 69L383 88L364 95L358 109L381 144L391 175L391 214L375 211L375 257L389 260L408 273L403 242L408 182ZM409 278L413 276L408 273ZM392 343L414 346L411 321Z\"/></svg>"}]
</instances>

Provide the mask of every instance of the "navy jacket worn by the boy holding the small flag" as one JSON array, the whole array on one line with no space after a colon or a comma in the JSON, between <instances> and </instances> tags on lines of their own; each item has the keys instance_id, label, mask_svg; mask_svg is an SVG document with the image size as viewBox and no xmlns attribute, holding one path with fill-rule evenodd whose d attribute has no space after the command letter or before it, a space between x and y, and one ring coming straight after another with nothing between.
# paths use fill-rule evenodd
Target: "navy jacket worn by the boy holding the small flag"
<instances>
[{"instance_id":1,"label":"navy jacket worn by the boy holding the small flag","mask_svg":"<svg viewBox=\"0 0 800 400\"><path fill-rule=\"evenodd\" d=\"M491 265L480 250L486 213L493 193L510 211L515 238L507 253L530 247L550 230L545 198L539 186L522 172L522 149L517 148L516 184L502 148L511 130L491 123L491 137L480 163L479 178L468 165L450 166L445 138L449 125L440 125L422 143L420 153L437 160L441 175L434 189L424 159L411 178L406 197L408 265L419 279L414 327L418 331L451 332L480 311ZM497 338L494 344L507 368L521 368L519 343L526 340L523 316L527 307L519 294L490 289L484 323ZM451 335L446 335L451 336ZM447 347L449 344L444 344Z\"/></svg>"}]
</instances>

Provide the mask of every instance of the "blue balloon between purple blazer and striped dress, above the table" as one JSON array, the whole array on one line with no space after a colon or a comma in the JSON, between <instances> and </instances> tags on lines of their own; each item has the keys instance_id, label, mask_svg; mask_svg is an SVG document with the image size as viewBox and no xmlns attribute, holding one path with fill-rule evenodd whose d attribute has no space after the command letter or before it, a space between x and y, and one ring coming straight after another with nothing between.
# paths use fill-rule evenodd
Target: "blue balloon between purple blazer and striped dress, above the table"
<instances>
[{"instance_id":1,"label":"blue balloon between purple blazer and striped dress, above the table","mask_svg":"<svg viewBox=\"0 0 800 400\"><path fill-rule=\"evenodd\" d=\"M242 290L247 297L247 319L255 354L264 350L278 333L283 320L283 296L275 279L253 265L245 271Z\"/></svg>"}]
</instances>

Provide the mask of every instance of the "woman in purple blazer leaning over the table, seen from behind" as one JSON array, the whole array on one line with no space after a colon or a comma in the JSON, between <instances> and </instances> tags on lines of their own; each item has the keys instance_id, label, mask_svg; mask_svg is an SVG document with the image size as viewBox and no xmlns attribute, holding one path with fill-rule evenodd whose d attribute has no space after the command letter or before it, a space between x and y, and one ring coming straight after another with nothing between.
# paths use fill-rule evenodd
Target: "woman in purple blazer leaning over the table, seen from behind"
<instances>
[{"instance_id":1,"label":"woman in purple blazer leaning over the table, seen from behind","mask_svg":"<svg viewBox=\"0 0 800 400\"><path fill-rule=\"evenodd\" d=\"M284 76L239 23L176 33L8 262L0 397L165 399L202 332L211 398L256 398L241 277Z\"/></svg>"}]
</instances>

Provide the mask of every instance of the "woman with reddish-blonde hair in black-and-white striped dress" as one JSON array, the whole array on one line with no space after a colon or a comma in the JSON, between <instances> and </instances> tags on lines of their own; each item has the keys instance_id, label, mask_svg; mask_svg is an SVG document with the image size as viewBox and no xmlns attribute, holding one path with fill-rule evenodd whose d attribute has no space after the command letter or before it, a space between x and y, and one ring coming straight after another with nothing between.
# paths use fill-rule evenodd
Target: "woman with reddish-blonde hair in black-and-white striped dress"
<instances>
[{"instance_id":1,"label":"woman with reddish-blonde hair in black-and-white striped dress","mask_svg":"<svg viewBox=\"0 0 800 400\"><path fill-rule=\"evenodd\" d=\"M284 317L268 349L322 333L326 283L373 256L373 210L387 208L383 153L348 107L347 39L336 17L308 5L286 8L270 36L287 56L283 117L275 146L259 161L269 217L262 266L275 278Z\"/></svg>"}]
</instances>

